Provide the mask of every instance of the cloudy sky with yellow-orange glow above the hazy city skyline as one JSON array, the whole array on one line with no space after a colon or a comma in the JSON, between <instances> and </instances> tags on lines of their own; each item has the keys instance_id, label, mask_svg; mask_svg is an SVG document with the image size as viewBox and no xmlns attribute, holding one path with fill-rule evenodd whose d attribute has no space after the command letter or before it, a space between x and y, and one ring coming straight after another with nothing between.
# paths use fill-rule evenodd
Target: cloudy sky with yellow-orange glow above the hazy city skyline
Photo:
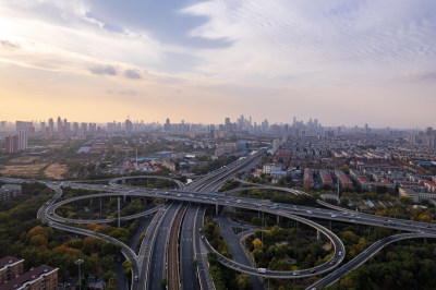
<instances>
[{"instance_id":1,"label":"cloudy sky with yellow-orange glow above the hazy city skyline","mask_svg":"<svg viewBox=\"0 0 436 290\"><path fill-rule=\"evenodd\" d=\"M0 0L0 119L436 126L434 0Z\"/></svg>"}]
</instances>

